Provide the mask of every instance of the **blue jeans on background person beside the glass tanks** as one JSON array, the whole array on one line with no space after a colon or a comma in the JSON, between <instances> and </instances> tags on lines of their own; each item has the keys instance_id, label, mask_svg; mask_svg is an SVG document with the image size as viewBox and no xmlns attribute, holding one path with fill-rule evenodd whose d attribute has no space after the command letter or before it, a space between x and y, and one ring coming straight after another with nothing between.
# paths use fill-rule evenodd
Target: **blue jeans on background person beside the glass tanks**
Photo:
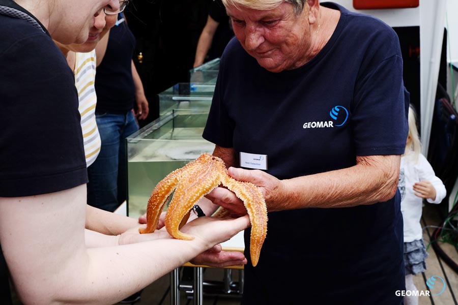
<instances>
[{"instance_id":1,"label":"blue jeans on background person beside the glass tanks","mask_svg":"<svg viewBox=\"0 0 458 305\"><path fill-rule=\"evenodd\" d=\"M96 112L102 146L88 167L88 204L114 211L127 198L127 155L125 139L138 130L132 111Z\"/></svg>"}]
</instances>

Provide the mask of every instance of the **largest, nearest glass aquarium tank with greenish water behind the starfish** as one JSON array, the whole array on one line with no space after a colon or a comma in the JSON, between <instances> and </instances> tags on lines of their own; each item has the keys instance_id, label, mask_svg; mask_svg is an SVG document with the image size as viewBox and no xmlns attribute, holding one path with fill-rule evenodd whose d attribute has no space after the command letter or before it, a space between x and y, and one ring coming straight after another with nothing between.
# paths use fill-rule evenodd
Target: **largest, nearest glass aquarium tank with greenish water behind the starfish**
<instances>
[{"instance_id":1,"label":"largest, nearest glass aquarium tank with greenish water behind the starfish","mask_svg":"<svg viewBox=\"0 0 458 305\"><path fill-rule=\"evenodd\" d=\"M151 192L167 174L213 153L215 144L202 137L207 117L208 111L174 109L126 139L129 217L146 212Z\"/></svg>"}]
</instances>

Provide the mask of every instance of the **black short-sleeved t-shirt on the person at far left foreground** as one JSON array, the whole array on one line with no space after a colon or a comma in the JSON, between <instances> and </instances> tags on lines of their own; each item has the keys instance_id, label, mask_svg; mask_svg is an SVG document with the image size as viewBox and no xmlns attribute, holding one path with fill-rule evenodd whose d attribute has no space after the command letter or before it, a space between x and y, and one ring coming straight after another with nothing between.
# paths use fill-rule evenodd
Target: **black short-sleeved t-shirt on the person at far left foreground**
<instances>
[{"instance_id":1,"label":"black short-sleeved t-shirt on the person at far left foreground","mask_svg":"<svg viewBox=\"0 0 458 305\"><path fill-rule=\"evenodd\" d=\"M74 75L51 37L0 15L0 196L87 182Z\"/></svg>"}]
</instances>

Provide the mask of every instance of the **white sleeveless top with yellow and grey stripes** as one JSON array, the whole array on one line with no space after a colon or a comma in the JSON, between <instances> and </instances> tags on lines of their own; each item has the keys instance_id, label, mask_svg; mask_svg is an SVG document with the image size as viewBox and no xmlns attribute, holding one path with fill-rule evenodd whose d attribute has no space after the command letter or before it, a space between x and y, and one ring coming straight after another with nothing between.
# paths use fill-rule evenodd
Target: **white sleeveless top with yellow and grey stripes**
<instances>
[{"instance_id":1,"label":"white sleeveless top with yellow and grey stripes","mask_svg":"<svg viewBox=\"0 0 458 305\"><path fill-rule=\"evenodd\" d=\"M97 96L94 87L96 73L95 51L89 53L76 53L75 59L75 86L78 90L81 114L81 130L84 141L84 154L86 165L90 166L100 152L100 135L95 118Z\"/></svg>"}]
</instances>

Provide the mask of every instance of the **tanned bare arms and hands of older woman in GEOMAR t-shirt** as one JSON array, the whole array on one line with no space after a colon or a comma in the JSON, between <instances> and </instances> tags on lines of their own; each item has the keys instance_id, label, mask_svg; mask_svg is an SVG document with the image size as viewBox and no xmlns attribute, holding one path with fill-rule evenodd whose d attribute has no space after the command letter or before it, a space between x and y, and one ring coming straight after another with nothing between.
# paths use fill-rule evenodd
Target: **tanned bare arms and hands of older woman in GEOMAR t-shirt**
<instances>
[{"instance_id":1,"label":"tanned bare arms and hands of older woman in GEOMAR t-shirt","mask_svg":"<svg viewBox=\"0 0 458 305\"><path fill-rule=\"evenodd\" d=\"M214 155L234 165L232 148L216 146ZM261 170L229 168L229 174L240 181L252 182L261 188L268 211L307 207L349 207L373 204L392 198L397 189L400 156L364 156L356 165L318 174L279 180ZM236 211L237 198L228 192L212 192L212 200ZM236 213L237 214L237 213Z\"/></svg>"}]
</instances>

